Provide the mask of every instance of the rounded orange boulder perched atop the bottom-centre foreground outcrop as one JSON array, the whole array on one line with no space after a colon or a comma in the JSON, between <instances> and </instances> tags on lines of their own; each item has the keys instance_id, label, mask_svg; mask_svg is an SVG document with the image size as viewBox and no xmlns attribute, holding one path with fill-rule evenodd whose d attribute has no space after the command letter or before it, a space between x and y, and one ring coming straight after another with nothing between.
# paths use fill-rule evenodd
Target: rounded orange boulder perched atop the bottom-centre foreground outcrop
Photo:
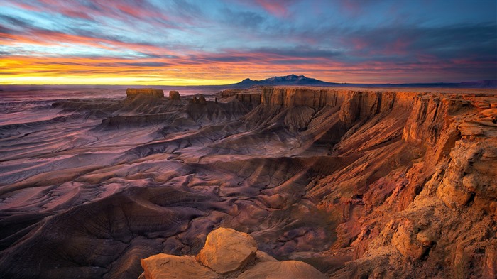
<instances>
[{"instance_id":1,"label":"rounded orange boulder perched atop the bottom-centre foreground outcrop","mask_svg":"<svg viewBox=\"0 0 497 279\"><path fill-rule=\"evenodd\" d=\"M224 274L243 268L256 257L256 252L257 243L249 234L219 228L207 236L197 261Z\"/></svg>"}]
</instances>

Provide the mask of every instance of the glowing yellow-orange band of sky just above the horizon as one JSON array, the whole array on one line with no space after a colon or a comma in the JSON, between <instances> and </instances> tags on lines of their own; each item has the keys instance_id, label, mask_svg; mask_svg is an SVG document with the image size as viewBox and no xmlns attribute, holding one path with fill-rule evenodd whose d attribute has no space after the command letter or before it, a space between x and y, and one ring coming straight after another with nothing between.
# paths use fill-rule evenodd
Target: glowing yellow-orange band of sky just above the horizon
<instances>
[{"instance_id":1,"label":"glowing yellow-orange band of sky just above the horizon","mask_svg":"<svg viewBox=\"0 0 497 279\"><path fill-rule=\"evenodd\" d=\"M381 83L384 65L322 64L272 65L272 58L257 57L255 62L191 62L188 58L38 58L11 56L0 61L0 84L110 84L110 85L222 85L246 78L263 80L280 75L305 75L326 82ZM163 63L164 66L147 66ZM310 67L312 69L310 70ZM443 65L425 69L417 75L436 72ZM399 74L391 71L390 75ZM410 77L416 73L411 72Z\"/></svg>"}]
</instances>

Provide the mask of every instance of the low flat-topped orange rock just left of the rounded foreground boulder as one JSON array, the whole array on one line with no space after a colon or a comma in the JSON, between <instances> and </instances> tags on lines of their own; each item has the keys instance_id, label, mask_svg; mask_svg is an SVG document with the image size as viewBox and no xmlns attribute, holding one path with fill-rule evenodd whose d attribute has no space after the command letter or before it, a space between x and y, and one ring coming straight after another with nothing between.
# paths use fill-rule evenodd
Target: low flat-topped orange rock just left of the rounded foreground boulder
<instances>
[{"instance_id":1,"label":"low flat-topped orange rock just left of the rounded foreground boulder","mask_svg":"<svg viewBox=\"0 0 497 279\"><path fill-rule=\"evenodd\" d=\"M141 260L146 279L218 278L214 271L190 256L173 256L160 253Z\"/></svg>"}]
</instances>

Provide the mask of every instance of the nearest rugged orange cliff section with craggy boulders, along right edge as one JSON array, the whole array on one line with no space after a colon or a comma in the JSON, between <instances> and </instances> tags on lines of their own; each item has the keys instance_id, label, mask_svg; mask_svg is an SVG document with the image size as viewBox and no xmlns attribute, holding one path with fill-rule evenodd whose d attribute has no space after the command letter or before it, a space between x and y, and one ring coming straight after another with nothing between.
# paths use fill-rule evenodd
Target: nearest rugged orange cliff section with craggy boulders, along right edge
<instances>
[{"instance_id":1,"label":"nearest rugged orange cliff section with craggy boulders, along right edge","mask_svg":"<svg viewBox=\"0 0 497 279\"><path fill-rule=\"evenodd\" d=\"M496 105L492 94L415 96L402 143L422 155L389 178L386 202L368 207L364 195L371 212L354 210L361 220L339 231L356 230L355 261L332 277L496 278ZM367 192L388 188L389 176Z\"/></svg>"}]
</instances>

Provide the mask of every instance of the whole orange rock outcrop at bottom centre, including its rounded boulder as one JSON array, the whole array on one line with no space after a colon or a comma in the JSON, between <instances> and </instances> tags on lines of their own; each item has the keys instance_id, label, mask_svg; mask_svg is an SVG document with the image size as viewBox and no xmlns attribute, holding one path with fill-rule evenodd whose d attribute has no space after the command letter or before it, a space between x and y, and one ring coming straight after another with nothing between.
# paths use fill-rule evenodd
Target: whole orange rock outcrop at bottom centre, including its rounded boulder
<instances>
[{"instance_id":1,"label":"whole orange rock outcrop at bottom centre, including its rounded boulder","mask_svg":"<svg viewBox=\"0 0 497 279\"><path fill-rule=\"evenodd\" d=\"M158 254L141 260L141 279L155 278L327 278L319 270L301 261L277 261L257 251L249 234L234 229L212 231L204 248L195 258Z\"/></svg>"}]
</instances>

